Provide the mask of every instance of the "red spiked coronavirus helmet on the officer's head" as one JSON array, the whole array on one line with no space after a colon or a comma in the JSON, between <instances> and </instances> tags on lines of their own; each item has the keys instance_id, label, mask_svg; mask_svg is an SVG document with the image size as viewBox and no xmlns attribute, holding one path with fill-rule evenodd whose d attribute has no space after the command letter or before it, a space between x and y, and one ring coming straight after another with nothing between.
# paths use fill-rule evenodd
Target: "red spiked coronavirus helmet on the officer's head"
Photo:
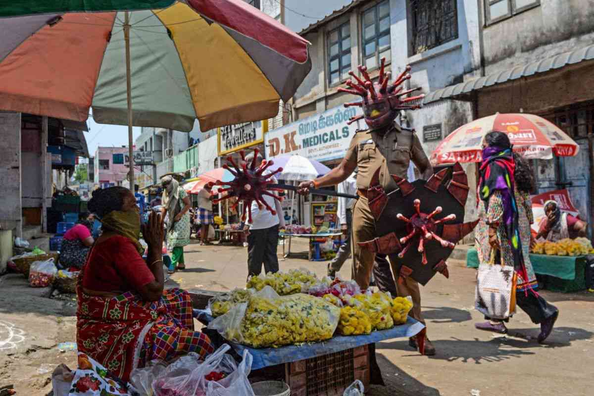
<instances>
[{"instance_id":1,"label":"red spiked coronavirus helmet on the officer's head","mask_svg":"<svg viewBox=\"0 0 594 396\"><path fill-rule=\"evenodd\" d=\"M386 58L381 58L380 75L377 82L371 80L365 66L359 65L359 78L353 71L349 75L353 80L347 80L346 85L349 88L338 88L339 91L358 95L363 98L362 102L345 103L345 107L359 106L363 109L363 115L355 116L349 119L347 123L355 122L364 118L371 129L383 128L396 119L400 110L414 110L422 106L422 100L425 95L408 97L414 91L421 87L403 91L402 83L410 79L410 66L406 66L393 83L388 84L390 72L384 74L384 65Z\"/></svg>"}]
</instances>

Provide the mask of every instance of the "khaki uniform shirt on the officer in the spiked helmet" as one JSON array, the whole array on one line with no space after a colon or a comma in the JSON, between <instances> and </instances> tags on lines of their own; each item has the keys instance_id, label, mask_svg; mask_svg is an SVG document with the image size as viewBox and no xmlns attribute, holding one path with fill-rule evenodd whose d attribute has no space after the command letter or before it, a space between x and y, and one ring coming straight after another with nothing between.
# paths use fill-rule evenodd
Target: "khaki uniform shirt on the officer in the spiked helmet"
<instances>
[{"instance_id":1,"label":"khaki uniform shirt on the officer in the spiked helmet","mask_svg":"<svg viewBox=\"0 0 594 396\"><path fill-rule=\"evenodd\" d=\"M358 131L350 141L345 159L359 168L357 188L368 189L379 168L380 185L386 192L397 188L390 175L406 179L411 160L421 172L430 166L419 138L413 132L403 131L396 123L383 135L371 129Z\"/></svg>"}]
</instances>

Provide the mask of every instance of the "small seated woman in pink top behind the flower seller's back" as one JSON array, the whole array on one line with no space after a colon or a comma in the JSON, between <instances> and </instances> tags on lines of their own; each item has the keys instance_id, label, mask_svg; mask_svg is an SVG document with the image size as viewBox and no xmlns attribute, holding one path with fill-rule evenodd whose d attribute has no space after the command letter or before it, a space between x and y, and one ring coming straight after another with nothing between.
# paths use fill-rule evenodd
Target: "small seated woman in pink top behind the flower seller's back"
<instances>
[{"instance_id":1,"label":"small seated woman in pink top behind the flower seller's back","mask_svg":"<svg viewBox=\"0 0 594 396\"><path fill-rule=\"evenodd\" d=\"M78 214L78 223L64 234L60 248L60 264L65 268L83 267L89 248L93 245L93 215L89 212Z\"/></svg>"}]
</instances>

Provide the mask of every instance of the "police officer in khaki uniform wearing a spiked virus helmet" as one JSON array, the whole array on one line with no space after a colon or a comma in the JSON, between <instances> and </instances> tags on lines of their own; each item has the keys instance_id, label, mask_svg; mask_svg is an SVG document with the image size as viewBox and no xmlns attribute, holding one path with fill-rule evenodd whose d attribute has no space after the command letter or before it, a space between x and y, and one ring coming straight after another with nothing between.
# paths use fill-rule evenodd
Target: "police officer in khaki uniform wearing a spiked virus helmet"
<instances>
[{"instance_id":1,"label":"police officer in khaki uniform wearing a spiked virus helmet","mask_svg":"<svg viewBox=\"0 0 594 396\"><path fill-rule=\"evenodd\" d=\"M361 66L359 66L359 70L361 69ZM399 99L394 99L394 96L399 96L396 94L398 91L394 93L394 90L390 90L387 87L385 90L381 89L381 74L380 81L372 83L373 85L369 83L363 85L369 94L364 96L362 102L364 116L359 116L359 118L365 118L369 129L356 132L350 142L349 150L339 166L321 178L302 182L299 185L299 192L301 194L308 194L310 188L331 186L343 182L343 180L350 176L355 167L358 167L359 172L356 181L359 199L352 209L352 249L353 278L362 289L369 287L369 278L371 276L375 254L367 249L362 249L358 245L358 242L366 242L378 236L375 234L375 219L369 209L369 203L366 197L367 189L370 186L371 178L375 171L380 169L379 182L387 193L397 189L396 182L394 182L394 179L390 175L396 175L406 179L410 161L413 161L417 169L421 171L424 179L428 179L433 174L431 164L421 147L418 137L412 131L402 129L394 121L399 114L399 109L410 109L410 106L403 106L404 100L401 102ZM363 75L366 77L366 73ZM401 75L399 78L400 80L410 78L407 76L409 75L405 75L403 78ZM386 78L389 78L389 74ZM399 79L392 86L397 86L396 83L399 83ZM361 85L359 84L358 87L361 87ZM386 84L383 85L384 87L386 86ZM370 92L372 89L375 90L374 95ZM358 88L357 91L345 91L356 94L361 89ZM355 119L352 119L352 121L355 121ZM395 273L394 268L396 267L396 262L399 260L398 255L391 254L389 258L392 271ZM412 297L413 308L410 315L424 323L421 316L419 284L411 277L407 277L404 284L396 284L399 296ZM416 347L416 341L412 338L409 343L412 347ZM435 354L435 348L428 339L425 339L425 354Z\"/></svg>"}]
</instances>

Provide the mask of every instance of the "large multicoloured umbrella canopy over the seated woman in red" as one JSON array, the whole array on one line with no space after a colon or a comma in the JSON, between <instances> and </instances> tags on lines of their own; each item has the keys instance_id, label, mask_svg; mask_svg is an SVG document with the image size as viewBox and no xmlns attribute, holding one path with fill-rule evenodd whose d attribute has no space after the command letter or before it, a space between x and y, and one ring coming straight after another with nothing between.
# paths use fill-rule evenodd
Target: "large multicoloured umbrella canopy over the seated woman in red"
<instances>
[{"instance_id":1,"label":"large multicoloured umbrella canopy over the seated woman in red","mask_svg":"<svg viewBox=\"0 0 594 396\"><path fill-rule=\"evenodd\" d=\"M20 0L0 31L0 110L76 121L128 125L128 92L135 126L258 121L311 69L307 40L241 0Z\"/></svg>"}]
</instances>

